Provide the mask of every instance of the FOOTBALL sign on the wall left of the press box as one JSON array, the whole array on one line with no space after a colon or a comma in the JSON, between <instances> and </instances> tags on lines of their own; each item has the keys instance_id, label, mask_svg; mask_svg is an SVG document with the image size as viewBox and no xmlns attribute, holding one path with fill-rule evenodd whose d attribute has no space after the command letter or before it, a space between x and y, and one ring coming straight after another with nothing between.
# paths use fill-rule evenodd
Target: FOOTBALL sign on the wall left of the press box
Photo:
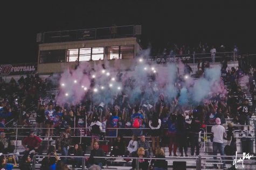
<instances>
[{"instance_id":1,"label":"FOOTBALL sign on the wall left of the press box","mask_svg":"<svg viewBox=\"0 0 256 170\"><path fill-rule=\"evenodd\" d=\"M37 63L0 65L0 76L27 75L37 71Z\"/></svg>"}]
</instances>

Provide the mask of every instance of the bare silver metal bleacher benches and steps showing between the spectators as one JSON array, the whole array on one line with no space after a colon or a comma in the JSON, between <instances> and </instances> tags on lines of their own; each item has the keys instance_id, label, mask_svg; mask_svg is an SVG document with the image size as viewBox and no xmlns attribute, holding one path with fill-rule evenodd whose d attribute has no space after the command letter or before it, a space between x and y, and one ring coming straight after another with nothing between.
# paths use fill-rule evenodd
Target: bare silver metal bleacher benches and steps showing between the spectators
<instances>
[{"instance_id":1,"label":"bare silver metal bleacher benches and steps showing between the spectators","mask_svg":"<svg viewBox=\"0 0 256 170\"><path fill-rule=\"evenodd\" d=\"M240 85L241 85L241 88L244 92L246 92L246 98L248 98L249 100L249 104L252 105L252 97L251 97L251 94L250 92L248 92L248 89L247 89L247 86L248 86L248 76L247 75L244 75L241 79L240 79ZM51 93L51 92L50 92ZM46 99L48 100L48 99ZM248 132L247 136L250 134L252 137L251 138L254 138L255 139L255 125L253 123L253 121L256 120L256 115L255 115L255 110L254 110L254 114L252 115L252 118L250 119L250 123L251 123L251 126L250 126L250 131ZM32 115L31 115L31 125L30 125L30 128L34 128L32 129L35 133L37 133L37 129L36 129L36 112L32 112ZM226 119L226 122L228 121L232 121L232 119ZM236 126L236 125L234 125ZM238 125L239 126L239 125ZM20 129L22 129L22 127L20 127ZM208 132L209 133L209 132ZM22 152L24 151L24 147L22 146L22 135L21 134L16 134L16 139L17 140L12 140L13 143L16 143L16 149L15 149L15 152L18 154L18 152ZM243 134L244 136L246 134ZM207 136L206 134L202 134L202 137L205 137ZM14 135L12 137L15 137ZM56 137L56 136L55 136ZM88 137L88 136L87 136ZM44 137L41 137L43 138L43 145L55 145L55 140L52 140L52 141L49 141L49 140L44 140ZM243 157L243 152L242 152L242 144L241 144L241 141L240 141L240 130L237 130L237 134L236 134L236 138L237 138L237 152L238 152L238 157ZM149 138L150 140L150 138ZM224 141L224 146L226 145L226 141ZM200 159L202 159L202 169L212 169L213 167L213 162L212 162L212 142L210 141L210 138L207 137L206 139L204 139L204 142L201 143L201 147L200 147ZM256 150L255 150L255 140L253 142L253 146L254 146L254 150L253 150L253 153L256 153ZM47 148L47 147L46 147ZM168 161L168 169L172 169L173 166L174 166L174 161L186 161L186 167L187 169L196 169L198 167L198 157L191 157L190 155L190 147L188 148L188 156L189 157L179 157L180 156L180 153L179 153L179 150L177 149L177 155L178 157L170 157L169 156L169 149L168 147L163 147L163 150L165 152L165 157L167 158L167 161ZM87 146L86 147L86 151L85 151L85 157L88 157L89 154L90 154L90 146ZM45 152L45 151L44 151ZM131 166L131 163L132 161L126 161L126 160L123 160L123 158L110 158L110 155L109 155L110 152L108 152L107 156L109 157L107 160L107 165L104 166L105 169L124 169L124 170L128 170L130 168L132 168ZM58 153L58 156L60 156L61 154ZM151 155L153 155L151 153ZM218 154L219 155L219 154ZM45 154L46 156L46 154ZM35 169L39 169L40 168L40 161L41 161L42 157L38 158L36 157L36 162L34 164L34 167ZM244 165L245 167L242 168L241 167L241 164L239 164L239 168L238 169L256 169L256 159L255 157L252 158L252 160L254 160L254 162L250 162L250 161L244 161ZM222 165L222 162L219 161L218 165ZM69 167L72 168L72 166L69 164L68 165ZM226 165L227 167L230 167L230 164L227 164ZM220 168L220 167L219 167ZM81 167L81 169L86 169L86 167Z\"/></svg>"}]
</instances>

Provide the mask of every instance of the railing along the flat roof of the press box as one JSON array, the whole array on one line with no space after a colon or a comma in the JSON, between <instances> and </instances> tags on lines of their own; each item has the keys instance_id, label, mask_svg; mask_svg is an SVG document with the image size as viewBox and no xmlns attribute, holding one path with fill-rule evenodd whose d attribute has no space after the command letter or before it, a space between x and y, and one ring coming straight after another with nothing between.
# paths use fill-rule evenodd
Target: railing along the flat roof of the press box
<instances>
[{"instance_id":1,"label":"railing along the flat roof of the press box","mask_svg":"<svg viewBox=\"0 0 256 170\"><path fill-rule=\"evenodd\" d=\"M135 28L135 25L128 25L44 32L43 43L131 37L135 36Z\"/></svg>"}]
</instances>

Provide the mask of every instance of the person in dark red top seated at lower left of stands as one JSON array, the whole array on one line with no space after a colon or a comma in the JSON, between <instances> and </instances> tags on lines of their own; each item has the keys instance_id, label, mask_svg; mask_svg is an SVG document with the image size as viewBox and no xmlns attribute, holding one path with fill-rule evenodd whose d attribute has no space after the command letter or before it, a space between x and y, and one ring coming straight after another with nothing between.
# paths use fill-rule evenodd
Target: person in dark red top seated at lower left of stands
<instances>
[{"instance_id":1,"label":"person in dark red top seated at lower left of stands","mask_svg":"<svg viewBox=\"0 0 256 170\"><path fill-rule=\"evenodd\" d=\"M41 142L42 140L34 135L33 131L30 131L29 135L25 137L22 141L22 145L25 148L25 151L23 153L29 153L30 151L34 150L38 152L38 154L41 154L43 152L43 149L40 146Z\"/></svg>"}]
</instances>

